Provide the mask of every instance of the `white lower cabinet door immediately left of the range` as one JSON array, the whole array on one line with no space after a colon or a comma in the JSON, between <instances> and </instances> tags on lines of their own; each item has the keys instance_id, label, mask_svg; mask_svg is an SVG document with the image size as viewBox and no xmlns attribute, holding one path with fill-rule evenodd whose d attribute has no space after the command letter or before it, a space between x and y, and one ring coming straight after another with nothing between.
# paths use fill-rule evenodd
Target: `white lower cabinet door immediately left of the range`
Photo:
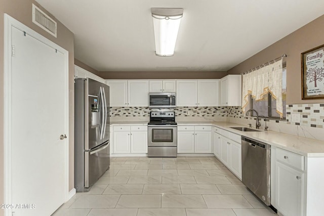
<instances>
[{"instance_id":1,"label":"white lower cabinet door immediately left of the range","mask_svg":"<svg viewBox=\"0 0 324 216\"><path fill-rule=\"evenodd\" d=\"M147 153L147 132L131 132L131 153Z\"/></svg>"}]
</instances>

